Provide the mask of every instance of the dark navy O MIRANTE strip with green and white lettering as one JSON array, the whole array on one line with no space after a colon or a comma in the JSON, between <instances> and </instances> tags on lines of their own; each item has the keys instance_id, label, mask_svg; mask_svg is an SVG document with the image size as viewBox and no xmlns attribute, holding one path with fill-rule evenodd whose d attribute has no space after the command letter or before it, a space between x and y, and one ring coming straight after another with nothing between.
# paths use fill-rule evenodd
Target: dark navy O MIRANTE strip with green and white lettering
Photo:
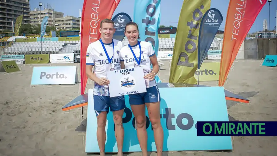
<instances>
[{"instance_id":1,"label":"dark navy O MIRANTE strip with green and white lettering","mask_svg":"<svg viewBox=\"0 0 277 156\"><path fill-rule=\"evenodd\" d=\"M197 136L277 136L277 121L197 121Z\"/></svg>"}]
</instances>

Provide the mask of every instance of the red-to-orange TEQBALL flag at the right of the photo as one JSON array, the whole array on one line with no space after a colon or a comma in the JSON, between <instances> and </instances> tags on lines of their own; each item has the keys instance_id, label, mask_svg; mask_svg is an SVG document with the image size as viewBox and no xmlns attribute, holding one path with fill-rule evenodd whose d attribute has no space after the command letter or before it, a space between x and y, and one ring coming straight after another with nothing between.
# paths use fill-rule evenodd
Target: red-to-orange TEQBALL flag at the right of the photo
<instances>
[{"instance_id":1,"label":"red-to-orange TEQBALL flag at the right of the photo","mask_svg":"<svg viewBox=\"0 0 277 156\"><path fill-rule=\"evenodd\" d=\"M223 86L239 48L267 0L230 0L220 61L219 86Z\"/></svg>"}]
</instances>

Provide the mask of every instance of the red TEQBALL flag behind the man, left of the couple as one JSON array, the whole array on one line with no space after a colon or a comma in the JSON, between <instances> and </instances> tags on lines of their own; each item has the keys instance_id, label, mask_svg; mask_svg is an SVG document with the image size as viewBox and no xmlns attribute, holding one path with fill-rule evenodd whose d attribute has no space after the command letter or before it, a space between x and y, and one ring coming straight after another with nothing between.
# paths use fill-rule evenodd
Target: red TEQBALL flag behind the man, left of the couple
<instances>
[{"instance_id":1,"label":"red TEQBALL flag behind the man, left of the couple","mask_svg":"<svg viewBox=\"0 0 277 156\"><path fill-rule=\"evenodd\" d=\"M84 0L81 28L81 94L84 94L87 82L86 49L92 42L100 39L100 22L111 19L120 0Z\"/></svg>"}]
</instances>

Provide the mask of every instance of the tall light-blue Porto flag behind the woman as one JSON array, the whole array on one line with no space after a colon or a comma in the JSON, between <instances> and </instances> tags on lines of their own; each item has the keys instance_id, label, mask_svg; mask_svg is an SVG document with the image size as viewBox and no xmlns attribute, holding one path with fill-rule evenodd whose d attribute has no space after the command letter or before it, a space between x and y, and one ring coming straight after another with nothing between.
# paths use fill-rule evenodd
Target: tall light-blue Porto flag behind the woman
<instances>
[{"instance_id":1,"label":"tall light-blue Porto flag behind the woman","mask_svg":"<svg viewBox=\"0 0 277 156\"><path fill-rule=\"evenodd\" d=\"M135 0L134 2L134 22L139 26L139 36L142 41L152 43L156 56L159 51L160 3L161 0ZM155 76L155 80L157 83L161 82L158 75Z\"/></svg>"}]
</instances>

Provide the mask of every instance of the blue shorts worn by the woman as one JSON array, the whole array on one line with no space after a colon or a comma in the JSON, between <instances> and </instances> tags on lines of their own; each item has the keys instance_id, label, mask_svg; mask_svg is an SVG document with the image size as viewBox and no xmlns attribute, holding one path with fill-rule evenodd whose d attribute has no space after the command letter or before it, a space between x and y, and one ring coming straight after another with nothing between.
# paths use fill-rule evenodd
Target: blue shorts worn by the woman
<instances>
[{"instance_id":1,"label":"blue shorts worn by the woman","mask_svg":"<svg viewBox=\"0 0 277 156\"><path fill-rule=\"evenodd\" d=\"M160 102L161 96L157 86L146 88L146 92L130 94L130 105L142 105L145 103Z\"/></svg>"}]
</instances>

